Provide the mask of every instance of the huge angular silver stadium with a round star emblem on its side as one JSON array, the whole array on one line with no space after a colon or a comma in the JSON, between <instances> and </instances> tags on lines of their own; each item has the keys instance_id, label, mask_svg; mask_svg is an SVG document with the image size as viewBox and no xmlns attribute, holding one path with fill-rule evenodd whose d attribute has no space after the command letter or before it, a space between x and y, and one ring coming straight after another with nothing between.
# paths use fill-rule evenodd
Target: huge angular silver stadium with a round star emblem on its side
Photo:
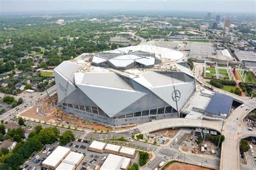
<instances>
[{"instance_id":1,"label":"huge angular silver stadium with a round star emblem on its side","mask_svg":"<svg viewBox=\"0 0 256 170\"><path fill-rule=\"evenodd\" d=\"M152 45L84 53L55 68L58 104L64 113L111 126L178 117L196 89L183 59Z\"/></svg>"}]
</instances>

